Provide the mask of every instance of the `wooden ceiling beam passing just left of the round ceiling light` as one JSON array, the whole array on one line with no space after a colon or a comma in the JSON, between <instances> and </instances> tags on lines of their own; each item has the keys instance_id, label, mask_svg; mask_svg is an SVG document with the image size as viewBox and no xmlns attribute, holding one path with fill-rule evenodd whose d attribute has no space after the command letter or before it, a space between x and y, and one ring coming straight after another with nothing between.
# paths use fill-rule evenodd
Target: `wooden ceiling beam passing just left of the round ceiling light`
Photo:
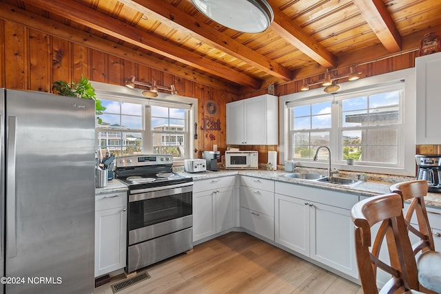
<instances>
[{"instance_id":1,"label":"wooden ceiling beam passing just left of the round ceiling light","mask_svg":"<svg viewBox=\"0 0 441 294\"><path fill-rule=\"evenodd\" d=\"M164 23L175 30L185 32L194 39L203 41L204 43L213 46L214 48L221 50L227 54L230 54L237 59L245 61L250 65L276 76L285 81L291 81L291 70L283 67L275 61L271 61L266 56L259 54L258 52L248 48L242 43L230 38L226 34L219 32L215 28L212 28L205 23L197 21L194 17L182 10L179 10L170 3L163 0L119 0L134 10L137 10L147 16L152 16L154 19L158 19L161 23Z\"/></svg>"}]
</instances>

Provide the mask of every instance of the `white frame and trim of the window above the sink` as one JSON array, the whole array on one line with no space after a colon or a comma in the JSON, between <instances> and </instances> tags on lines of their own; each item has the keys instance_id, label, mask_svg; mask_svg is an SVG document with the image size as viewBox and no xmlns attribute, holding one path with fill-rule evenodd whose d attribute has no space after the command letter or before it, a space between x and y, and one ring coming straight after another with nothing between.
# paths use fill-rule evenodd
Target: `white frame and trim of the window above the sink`
<instances>
[{"instance_id":1,"label":"white frame and trim of the window above the sink","mask_svg":"<svg viewBox=\"0 0 441 294\"><path fill-rule=\"evenodd\" d=\"M280 96L279 110L280 110L280 164L283 164L285 160L291 160L290 153L290 139L289 134L289 109L287 103L296 103L296 105L318 103L320 101L333 101L332 107L337 108L333 112L339 111L339 104L337 100L341 100L342 93L356 93L365 91L371 87L378 88L380 85L389 86L391 83L398 83L404 81L404 99L400 103L401 117L402 117L402 130L398 136L401 137L401 145L398 147L402 153L402 163L400 165L370 165L370 164L356 164L347 165L345 160L338 160L338 156L334 154L340 154L342 152L341 136L340 132L340 118L338 121L332 120L332 129L334 132L338 132L337 139L331 139L329 148L331 149L333 156L331 156L331 164L340 170L356 171L356 172L372 172L378 174L393 174L400 176L415 176L415 146L416 146L416 78L415 69L409 68L407 70L399 70L396 72L389 72L387 74L380 74L378 76L371 76L368 78L362 78L358 81L351 81L346 83L339 83L340 94L325 94L322 92L322 87L306 92L297 92L294 94L288 94ZM336 96L340 96L336 99ZM340 116L340 113L338 114ZM338 129L338 131L335 131ZM327 160L298 160L294 159L300 167L315 167L315 168L327 168Z\"/></svg>"}]
</instances>

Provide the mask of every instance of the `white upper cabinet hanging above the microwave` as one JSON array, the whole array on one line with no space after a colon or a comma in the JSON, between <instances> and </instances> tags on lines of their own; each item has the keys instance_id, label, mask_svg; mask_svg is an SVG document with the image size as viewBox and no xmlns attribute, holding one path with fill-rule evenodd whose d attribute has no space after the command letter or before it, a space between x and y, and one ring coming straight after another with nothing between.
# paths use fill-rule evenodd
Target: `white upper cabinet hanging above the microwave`
<instances>
[{"instance_id":1,"label":"white upper cabinet hanging above the microwave","mask_svg":"<svg viewBox=\"0 0 441 294\"><path fill-rule=\"evenodd\" d=\"M278 97L265 94L227 103L227 144L278 145Z\"/></svg>"}]
</instances>

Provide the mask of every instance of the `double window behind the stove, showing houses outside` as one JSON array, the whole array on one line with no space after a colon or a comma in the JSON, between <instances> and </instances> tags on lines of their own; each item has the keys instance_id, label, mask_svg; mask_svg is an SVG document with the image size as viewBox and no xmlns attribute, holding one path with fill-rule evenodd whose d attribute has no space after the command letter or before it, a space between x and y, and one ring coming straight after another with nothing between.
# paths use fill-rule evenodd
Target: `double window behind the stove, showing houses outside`
<instances>
[{"instance_id":1,"label":"double window behind the stove, showing houses outside","mask_svg":"<svg viewBox=\"0 0 441 294\"><path fill-rule=\"evenodd\" d=\"M116 101L107 95L99 98L106 107L99 115L103 122L96 125L99 149L115 156L172 154L175 161L189 158L192 105L139 98L127 102L127 98L112 97L119 98Z\"/></svg>"}]
</instances>

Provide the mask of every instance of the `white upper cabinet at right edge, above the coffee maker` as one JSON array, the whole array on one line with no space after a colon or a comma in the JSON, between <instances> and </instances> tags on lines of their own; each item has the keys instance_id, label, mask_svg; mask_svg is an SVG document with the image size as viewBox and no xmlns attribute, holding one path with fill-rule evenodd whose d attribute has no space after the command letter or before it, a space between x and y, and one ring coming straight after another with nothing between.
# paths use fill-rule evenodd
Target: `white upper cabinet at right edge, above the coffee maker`
<instances>
[{"instance_id":1,"label":"white upper cabinet at right edge, above the coffee maker","mask_svg":"<svg viewBox=\"0 0 441 294\"><path fill-rule=\"evenodd\" d=\"M416 143L441 144L441 52L418 57L416 66Z\"/></svg>"}]
</instances>

